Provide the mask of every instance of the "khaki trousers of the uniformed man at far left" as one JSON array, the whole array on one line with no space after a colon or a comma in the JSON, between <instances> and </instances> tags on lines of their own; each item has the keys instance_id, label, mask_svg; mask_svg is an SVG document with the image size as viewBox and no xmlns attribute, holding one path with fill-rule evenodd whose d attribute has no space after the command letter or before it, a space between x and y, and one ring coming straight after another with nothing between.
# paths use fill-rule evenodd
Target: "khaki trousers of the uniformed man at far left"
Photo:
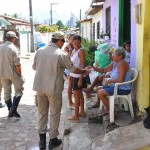
<instances>
[{"instance_id":1,"label":"khaki trousers of the uniformed man at far left","mask_svg":"<svg viewBox=\"0 0 150 150\"><path fill-rule=\"evenodd\" d=\"M14 85L15 89L15 96L22 96L23 95L23 83L24 80L23 78L10 78L10 79L1 79L3 88L4 88L4 100L7 101L11 98L11 93L12 89L11 86L12 84Z\"/></svg>"}]
</instances>

